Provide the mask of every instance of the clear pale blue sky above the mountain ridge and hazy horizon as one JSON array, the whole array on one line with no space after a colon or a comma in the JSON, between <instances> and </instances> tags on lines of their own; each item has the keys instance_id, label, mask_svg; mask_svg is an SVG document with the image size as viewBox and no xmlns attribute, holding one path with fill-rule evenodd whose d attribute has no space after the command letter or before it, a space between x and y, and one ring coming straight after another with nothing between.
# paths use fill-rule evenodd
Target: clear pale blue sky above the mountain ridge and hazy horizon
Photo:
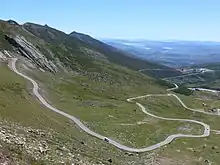
<instances>
[{"instance_id":1,"label":"clear pale blue sky above the mountain ridge and hazy horizon","mask_svg":"<svg viewBox=\"0 0 220 165\"><path fill-rule=\"evenodd\" d=\"M220 41L219 0L6 0L0 18L96 38Z\"/></svg>"}]
</instances>

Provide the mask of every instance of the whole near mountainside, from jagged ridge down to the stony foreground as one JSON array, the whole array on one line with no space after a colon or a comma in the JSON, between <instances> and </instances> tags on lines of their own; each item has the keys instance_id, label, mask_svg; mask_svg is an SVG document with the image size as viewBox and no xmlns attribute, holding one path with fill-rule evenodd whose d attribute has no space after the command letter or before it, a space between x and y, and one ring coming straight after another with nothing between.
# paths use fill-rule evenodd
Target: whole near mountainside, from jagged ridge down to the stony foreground
<instances>
[{"instance_id":1,"label":"whole near mountainside, from jagged ridge down to the stony foreground","mask_svg":"<svg viewBox=\"0 0 220 165\"><path fill-rule=\"evenodd\" d=\"M169 69L84 34L0 21L0 164L218 164L219 117L202 105L219 106L219 96L179 88L201 108L192 112L172 84L142 74ZM217 133L201 138L192 120ZM197 138L172 141L182 134Z\"/></svg>"}]
</instances>

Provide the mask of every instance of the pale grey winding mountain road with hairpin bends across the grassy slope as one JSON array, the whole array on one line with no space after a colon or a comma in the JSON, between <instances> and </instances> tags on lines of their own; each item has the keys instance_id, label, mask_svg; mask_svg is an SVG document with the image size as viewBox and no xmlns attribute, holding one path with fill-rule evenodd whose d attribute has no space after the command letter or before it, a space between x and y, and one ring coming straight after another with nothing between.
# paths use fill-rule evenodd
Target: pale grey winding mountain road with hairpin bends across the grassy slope
<instances>
[{"instance_id":1,"label":"pale grey winding mountain road with hairpin bends across the grassy slope","mask_svg":"<svg viewBox=\"0 0 220 165\"><path fill-rule=\"evenodd\" d=\"M136 99L140 99L140 98L144 98L144 97L151 97L151 96L173 96L175 97L180 103L181 105L188 109L188 110L191 110L191 111L196 111L196 112L201 112L199 110L196 110L196 109L192 109L192 108L188 108L184 103L183 101L177 96L177 95L174 95L174 94L149 94L149 95L145 95L145 96L139 96L139 97L134 97L134 98L129 98L127 99L128 102L130 103L135 103L138 107L140 107L140 109L142 110L143 113L149 115L149 116L152 116L152 117L155 117L157 119L162 119L162 120L168 120L168 121L184 121L184 122L191 122L191 123L195 123L195 124L200 124L204 127L204 132L203 134L201 135L190 135L190 134L173 134L173 135L170 135L168 136L164 141L161 141L157 144L154 144L154 145L151 145L151 146L148 146L148 147L145 147L145 148L131 148L131 147L128 147L128 146L125 146L123 144L120 144L110 138L107 138L105 136L102 136L92 130L90 130L87 126L85 126L78 118L72 116L72 115L69 115L55 107L53 107L52 105L50 105L42 96L41 94L39 93L39 86L37 84L36 81L34 81L33 79L31 79L30 77L24 75L23 73L20 73L17 68L16 68L16 61L17 61L17 58L12 58L9 60L9 63L8 63L8 66L9 68L11 68L12 71L14 71L16 74L18 74L19 76L27 79L28 81L30 81L32 84L33 84L33 93L34 95L38 98L38 100L45 106L47 107L48 109L62 115L62 116L65 116L67 117L68 119L74 121L78 126L79 128L81 128L84 132L88 133L89 135L93 136L93 137L96 137L98 139L101 139L103 141L106 141L107 143L109 144L112 144L114 145L115 147L121 149L121 150L124 150L124 151L128 151L128 152L136 152L136 153L139 153L139 152L146 152L146 151L151 151L151 150L154 150L154 149L157 149L159 147L162 147L164 145L167 145L169 144L170 142L172 142L174 139L176 138L182 138L182 137L188 137L188 138L202 138L202 137L207 137L210 135L210 127L209 125L205 124L205 123L202 123L202 122L199 122L199 121L196 121L196 120L189 120L189 119L174 119L174 118L165 118L165 117L160 117L160 116L156 116L156 115L153 115L151 113L149 113L146 108L138 103L138 102L135 102L134 100ZM174 90L174 89L177 89L178 86L175 84L175 87L174 88L171 88L171 89L167 89L167 91L171 91L171 90ZM202 112L202 113L205 113L205 112ZM207 113L206 113L207 114ZM209 114L209 113L208 113Z\"/></svg>"}]
</instances>

